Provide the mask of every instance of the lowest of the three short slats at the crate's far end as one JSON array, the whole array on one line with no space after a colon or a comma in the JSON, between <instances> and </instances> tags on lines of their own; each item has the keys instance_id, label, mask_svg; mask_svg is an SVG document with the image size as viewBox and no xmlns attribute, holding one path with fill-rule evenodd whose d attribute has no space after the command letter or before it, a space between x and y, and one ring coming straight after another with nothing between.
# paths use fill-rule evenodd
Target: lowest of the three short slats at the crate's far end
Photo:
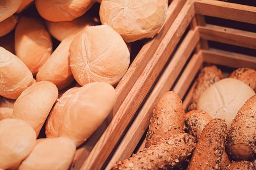
<instances>
[{"instance_id":1,"label":"lowest of the three short slats at the crate's far end","mask_svg":"<svg viewBox=\"0 0 256 170\"><path fill-rule=\"evenodd\" d=\"M204 62L232 68L248 67L256 69L256 57L216 49L201 50Z\"/></svg>"}]
</instances>

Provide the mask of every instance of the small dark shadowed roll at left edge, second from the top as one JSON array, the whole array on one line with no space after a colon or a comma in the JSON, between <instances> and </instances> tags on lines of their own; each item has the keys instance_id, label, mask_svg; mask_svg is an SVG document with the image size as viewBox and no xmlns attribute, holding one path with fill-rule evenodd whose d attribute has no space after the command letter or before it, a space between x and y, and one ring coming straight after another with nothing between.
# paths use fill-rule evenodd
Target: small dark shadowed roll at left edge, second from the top
<instances>
[{"instance_id":1,"label":"small dark shadowed roll at left edge, second from the top","mask_svg":"<svg viewBox=\"0 0 256 170\"><path fill-rule=\"evenodd\" d=\"M18 22L18 16L12 15L0 22L0 37L10 33Z\"/></svg>"}]
</instances>

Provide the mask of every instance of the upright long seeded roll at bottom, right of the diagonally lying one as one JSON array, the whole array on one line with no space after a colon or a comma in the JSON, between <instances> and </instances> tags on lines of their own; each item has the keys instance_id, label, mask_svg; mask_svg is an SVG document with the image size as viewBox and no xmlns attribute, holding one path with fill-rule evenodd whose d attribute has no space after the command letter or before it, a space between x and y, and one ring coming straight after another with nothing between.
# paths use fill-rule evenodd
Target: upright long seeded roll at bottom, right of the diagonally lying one
<instances>
[{"instance_id":1,"label":"upright long seeded roll at bottom, right of the diagonally lying one","mask_svg":"<svg viewBox=\"0 0 256 170\"><path fill-rule=\"evenodd\" d=\"M213 119L204 128L192 155L188 170L219 170L227 136L227 125Z\"/></svg>"}]
</instances>

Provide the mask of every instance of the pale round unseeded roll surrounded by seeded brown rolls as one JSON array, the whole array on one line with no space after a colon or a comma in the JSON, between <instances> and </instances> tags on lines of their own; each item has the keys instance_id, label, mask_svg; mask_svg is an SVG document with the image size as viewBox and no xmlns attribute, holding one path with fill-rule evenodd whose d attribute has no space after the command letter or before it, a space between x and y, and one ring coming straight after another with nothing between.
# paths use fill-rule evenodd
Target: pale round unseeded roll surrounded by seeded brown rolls
<instances>
[{"instance_id":1,"label":"pale round unseeded roll surrounded by seeded brown rolls","mask_svg":"<svg viewBox=\"0 0 256 170\"><path fill-rule=\"evenodd\" d=\"M226 78L207 88L197 102L197 109L206 111L213 119L224 119L230 127L241 106L254 90L240 80Z\"/></svg>"}]
</instances>

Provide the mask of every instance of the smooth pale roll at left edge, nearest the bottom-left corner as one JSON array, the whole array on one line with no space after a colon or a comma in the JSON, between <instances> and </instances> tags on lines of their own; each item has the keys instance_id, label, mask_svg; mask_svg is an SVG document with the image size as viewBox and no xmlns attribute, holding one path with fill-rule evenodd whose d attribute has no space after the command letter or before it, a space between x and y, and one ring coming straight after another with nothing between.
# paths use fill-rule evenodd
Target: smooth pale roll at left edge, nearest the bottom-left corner
<instances>
[{"instance_id":1,"label":"smooth pale roll at left edge, nearest the bottom-left corner","mask_svg":"<svg viewBox=\"0 0 256 170\"><path fill-rule=\"evenodd\" d=\"M8 169L19 165L32 151L36 133L20 119L0 121L0 168Z\"/></svg>"}]
</instances>

